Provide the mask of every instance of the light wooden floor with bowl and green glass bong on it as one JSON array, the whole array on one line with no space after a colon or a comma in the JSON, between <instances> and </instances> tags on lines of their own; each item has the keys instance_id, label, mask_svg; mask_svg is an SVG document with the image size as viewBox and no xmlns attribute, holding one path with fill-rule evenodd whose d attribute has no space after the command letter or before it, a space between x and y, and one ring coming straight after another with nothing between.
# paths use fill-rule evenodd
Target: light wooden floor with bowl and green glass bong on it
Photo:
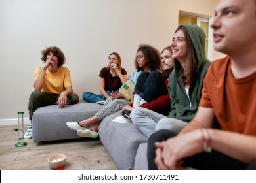
<instances>
[{"instance_id":1,"label":"light wooden floor with bowl and green glass bong on it","mask_svg":"<svg viewBox=\"0 0 256 183\"><path fill-rule=\"evenodd\" d=\"M28 129L24 125L24 131ZM47 159L53 154L67 156L64 169L117 170L118 167L110 157L99 139L72 139L65 141L33 142L15 146L16 125L0 125L0 169L1 170L38 170L51 169Z\"/></svg>"}]
</instances>

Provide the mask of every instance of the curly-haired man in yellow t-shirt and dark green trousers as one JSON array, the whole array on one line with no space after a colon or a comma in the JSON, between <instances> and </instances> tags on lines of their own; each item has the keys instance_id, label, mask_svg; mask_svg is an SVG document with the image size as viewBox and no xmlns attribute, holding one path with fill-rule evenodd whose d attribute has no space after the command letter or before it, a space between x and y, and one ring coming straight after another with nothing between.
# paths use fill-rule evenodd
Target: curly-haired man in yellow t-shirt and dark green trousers
<instances>
[{"instance_id":1,"label":"curly-haired man in yellow t-shirt and dark green trousers","mask_svg":"<svg viewBox=\"0 0 256 183\"><path fill-rule=\"evenodd\" d=\"M41 60L45 65L35 69L35 91L30 95L28 110L30 120L39 107L58 104L60 108L79 102L77 94L73 93L70 71L62 65L66 63L63 52L58 47L49 47L41 51ZM24 135L32 138L32 124Z\"/></svg>"}]
</instances>

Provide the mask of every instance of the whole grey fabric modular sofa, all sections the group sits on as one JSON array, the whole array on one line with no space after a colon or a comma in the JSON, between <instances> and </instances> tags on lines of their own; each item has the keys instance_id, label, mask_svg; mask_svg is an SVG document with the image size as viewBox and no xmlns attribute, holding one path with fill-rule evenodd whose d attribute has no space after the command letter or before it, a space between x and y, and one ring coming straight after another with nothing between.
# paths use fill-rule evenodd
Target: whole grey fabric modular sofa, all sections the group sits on
<instances>
[{"instance_id":1,"label":"whole grey fabric modular sofa, all sections the group sits on","mask_svg":"<svg viewBox=\"0 0 256 183\"><path fill-rule=\"evenodd\" d=\"M58 105L41 107L35 110L32 120L33 141L56 141L81 138L76 131L67 127L66 122L84 120L95 115L102 105L79 101L75 105L58 108ZM102 120L99 126L100 141L114 159L119 169L147 169L146 153L139 148L141 143L147 142L148 137L143 135L135 124L119 124L112 122L117 111ZM144 146L142 146L144 147ZM137 150L138 151L137 152ZM138 158L135 158L138 157ZM142 158L139 158L142 157ZM135 159L136 162L135 162Z\"/></svg>"}]
</instances>

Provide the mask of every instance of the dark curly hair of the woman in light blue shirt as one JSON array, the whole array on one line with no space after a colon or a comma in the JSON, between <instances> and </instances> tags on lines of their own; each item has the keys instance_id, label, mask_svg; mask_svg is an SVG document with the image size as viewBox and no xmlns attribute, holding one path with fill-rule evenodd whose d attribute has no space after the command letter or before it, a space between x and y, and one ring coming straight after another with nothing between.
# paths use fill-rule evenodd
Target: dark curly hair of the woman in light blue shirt
<instances>
[{"instance_id":1,"label":"dark curly hair of the woman in light blue shirt","mask_svg":"<svg viewBox=\"0 0 256 183\"><path fill-rule=\"evenodd\" d=\"M161 66L161 54L158 49L148 44L140 44L137 52L139 51L143 52L146 58L146 64L150 68L150 71L162 71L163 68ZM140 71L142 69L138 65L137 56L135 57L135 68L137 69L137 71Z\"/></svg>"}]
</instances>

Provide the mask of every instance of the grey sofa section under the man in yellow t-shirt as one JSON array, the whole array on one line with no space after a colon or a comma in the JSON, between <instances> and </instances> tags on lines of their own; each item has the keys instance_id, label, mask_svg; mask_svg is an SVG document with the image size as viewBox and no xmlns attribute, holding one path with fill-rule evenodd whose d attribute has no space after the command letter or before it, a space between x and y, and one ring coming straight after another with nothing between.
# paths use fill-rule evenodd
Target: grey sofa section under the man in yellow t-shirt
<instances>
[{"instance_id":1,"label":"grey sofa section under the man in yellow t-shirt","mask_svg":"<svg viewBox=\"0 0 256 183\"><path fill-rule=\"evenodd\" d=\"M58 105L40 107L32 118L33 141L55 141L81 138L77 131L70 129L66 122L75 122L91 118L102 105L79 101L75 105L59 108Z\"/></svg>"}]
</instances>

